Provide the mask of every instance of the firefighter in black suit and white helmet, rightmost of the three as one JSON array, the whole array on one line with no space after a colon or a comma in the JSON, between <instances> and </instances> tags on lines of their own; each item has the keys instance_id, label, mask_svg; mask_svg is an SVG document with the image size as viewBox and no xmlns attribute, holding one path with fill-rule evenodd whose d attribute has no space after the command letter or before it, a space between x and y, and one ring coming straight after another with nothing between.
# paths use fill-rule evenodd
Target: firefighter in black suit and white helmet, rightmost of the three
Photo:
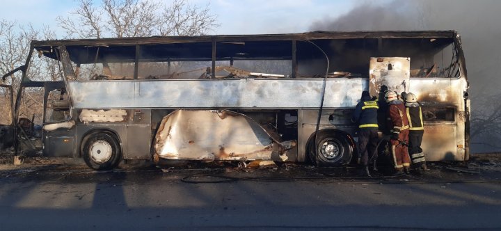
<instances>
[{"instance_id":1,"label":"firefighter in black suit and white helmet, rightmost of the three","mask_svg":"<svg viewBox=\"0 0 501 231\"><path fill-rule=\"evenodd\" d=\"M404 93L402 93L404 95ZM426 159L421 149L422 136L424 134L423 113L421 104L417 102L417 97L413 93L404 96L407 109L407 119L409 122L409 145L408 151L411 154L413 168L418 173L427 170Z\"/></svg>"}]
</instances>

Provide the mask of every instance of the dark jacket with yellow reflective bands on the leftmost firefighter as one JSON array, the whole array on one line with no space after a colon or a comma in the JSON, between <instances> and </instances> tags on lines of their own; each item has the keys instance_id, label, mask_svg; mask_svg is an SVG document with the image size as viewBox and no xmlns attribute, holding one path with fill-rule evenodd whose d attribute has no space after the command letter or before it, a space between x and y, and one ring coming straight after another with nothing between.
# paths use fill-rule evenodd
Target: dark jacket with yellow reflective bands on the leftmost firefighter
<instances>
[{"instance_id":1,"label":"dark jacket with yellow reflective bands on the leftmost firefighter","mask_svg":"<svg viewBox=\"0 0 501 231\"><path fill-rule=\"evenodd\" d=\"M377 110L379 106L371 97L365 96L360 99L360 102L353 112L351 121L358 123L358 128L377 129Z\"/></svg>"}]
</instances>

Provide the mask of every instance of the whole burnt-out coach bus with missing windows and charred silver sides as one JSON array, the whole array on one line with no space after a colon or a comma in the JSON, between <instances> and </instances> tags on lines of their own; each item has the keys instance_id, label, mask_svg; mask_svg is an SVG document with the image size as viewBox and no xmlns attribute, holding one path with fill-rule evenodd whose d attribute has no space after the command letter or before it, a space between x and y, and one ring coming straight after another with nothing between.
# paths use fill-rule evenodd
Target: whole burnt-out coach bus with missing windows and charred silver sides
<instances>
[{"instance_id":1,"label":"whole burnt-out coach bus with missing windows and charred silver sides","mask_svg":"<svg viewBox=\"0 0 501 231\"><path fill-rule=\"evenodd\" d=\"M422 103L427 160L469 158L456 31L33 41L4 83L16 71L15 100L1 86L2 139L19 155L38 148L94 169L122 160L339 166L356 153L351 114L362 91L377 97L385 85Z\"/></svg>"}]
</instances>

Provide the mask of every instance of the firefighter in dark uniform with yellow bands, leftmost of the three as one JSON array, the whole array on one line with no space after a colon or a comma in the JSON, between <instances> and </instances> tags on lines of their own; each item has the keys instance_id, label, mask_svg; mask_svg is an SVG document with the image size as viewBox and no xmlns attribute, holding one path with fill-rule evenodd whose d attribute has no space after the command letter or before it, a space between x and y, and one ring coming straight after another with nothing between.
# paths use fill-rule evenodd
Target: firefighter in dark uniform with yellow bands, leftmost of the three
<instances>
[{"instance_id":1,"label":"firefighter in dark uniform with yellow bands, leftmost of the three","mask_svg":"<svg viewBox=\"0 0 501 231\"><path fill-rule=\"evenodd\" d=\"M351 121L358 124L358 159L362 165L361 174L370 176L369 153L374 154L371 159L376 166L377 153L374 152L378 141L377 110L379 106L374 99L371 99L369 92L364 90L360 102L356 105Z\"/></svg>"}]
</instances>

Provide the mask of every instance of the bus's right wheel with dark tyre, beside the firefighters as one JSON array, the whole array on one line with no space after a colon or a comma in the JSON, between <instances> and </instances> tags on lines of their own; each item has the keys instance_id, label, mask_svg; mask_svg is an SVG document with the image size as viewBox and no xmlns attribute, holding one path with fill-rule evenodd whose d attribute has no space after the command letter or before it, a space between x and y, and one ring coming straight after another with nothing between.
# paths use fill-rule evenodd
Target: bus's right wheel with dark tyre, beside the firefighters
<instances>
[{"instance_id":1,"label":"bus's right wheel with dark tyre, beside the firefighters","mask_svg":"<svg viewBox=\"0 0 501 231\"><path fill-rule=\"evenodd\" d=\"M319 132L316 145L315 135L310 138L308 142L308 154L313 164L318 164L319 166L342 166L349 164L353 148L346 135L324 131Z\"/></svg>"}]
</instances>

